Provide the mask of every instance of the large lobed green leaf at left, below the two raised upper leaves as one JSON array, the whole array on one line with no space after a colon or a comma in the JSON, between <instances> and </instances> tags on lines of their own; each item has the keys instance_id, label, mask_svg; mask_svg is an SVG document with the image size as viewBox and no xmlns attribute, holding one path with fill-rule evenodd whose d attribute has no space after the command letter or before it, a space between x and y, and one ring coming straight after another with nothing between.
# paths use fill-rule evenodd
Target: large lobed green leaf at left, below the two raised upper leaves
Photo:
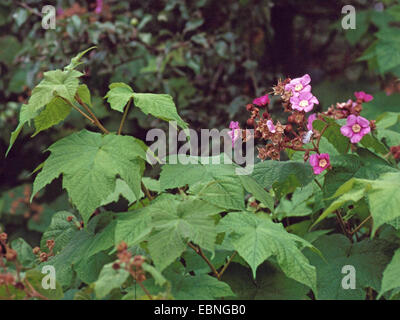
<instances>
[{"instance_id":1,"label":"large lobed green leaf at left, below the two raised upper leaves","mask_svg":"<svg viewBox=\"0 0 400 320\"><path fill-rule=\"evenodd\" d=\"M62 174L63 187L85 222L114 192L118 176L140 197L146 153L135 138L82 130L48 150L51 155L35 179L33 195Z\"/></svg>"}]
</instances>

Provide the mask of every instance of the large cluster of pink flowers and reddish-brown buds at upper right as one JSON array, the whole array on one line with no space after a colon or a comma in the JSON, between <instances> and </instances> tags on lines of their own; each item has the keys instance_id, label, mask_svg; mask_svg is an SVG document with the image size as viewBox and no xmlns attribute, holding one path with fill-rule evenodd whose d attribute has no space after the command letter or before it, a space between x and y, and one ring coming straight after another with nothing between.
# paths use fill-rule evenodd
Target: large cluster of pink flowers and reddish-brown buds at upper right
<instances>
[{"instance_id":1,"label":"large cluster of pink flowers and reddish-brown buds at upper right","mask_svg":"<svg viewBox=\"0 0 400 320\"><path fill-rule=\"evenodd\" d=\"M324 117L333 119L347 119L346 124L341 127L340 132L350 139L351 143L358 143L364 135L374 129L375 123L362 116L362 104L370 102L373 96L363 91L355 92L356 100L349 99L345 103L337 103L331 106L326 112L312 113L308 117L307 112L319 104L318 99L311 92L311 77L305 74L302 77L279 80L273 87L274 95L280 96L284 111L290 113L287 123L274 122L268 111L270 98L268 94L255 98L252 104L246 106L251 113L247 120L247 127L254 128L254 138L264 140L267 143L258 148L258 158L265 160L279 160L281 152L286 149L304 151L304 161L309 159L314 174L320 174L330 169L330 158L327 153L320 153L319 143L324 131L329 124ZM264 110L262 110L262 108ZM319 132L313 127L315 120L325 122L324 129ZM242 130L238 122L230 123L229 135L232 139L232 146L242 138L247 141L251 136L249 130ZM312 143L312 147L310 147ZM307 146L305 146L307 145ZM311 154L312 153L312 154Z\"/></svg>"}]
</instances>

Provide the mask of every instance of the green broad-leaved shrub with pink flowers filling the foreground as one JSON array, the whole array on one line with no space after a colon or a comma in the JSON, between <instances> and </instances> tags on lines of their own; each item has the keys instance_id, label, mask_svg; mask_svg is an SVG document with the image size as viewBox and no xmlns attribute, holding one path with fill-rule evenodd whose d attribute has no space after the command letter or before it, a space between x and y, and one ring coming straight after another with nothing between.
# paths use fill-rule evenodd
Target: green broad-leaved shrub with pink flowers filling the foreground
<instances>
[{"instance_id":1,"label":"green broad-leaved shrub with pink flowers filling the foreground","mask_svg":"<svg viewBox=\"0 0 400 320\"><path fill-rule=\"evenodd\" d=\"M33 122L35 136L71 112L90 125L49 146L32 193L28 186L21 201L10 200L15 211L30 197L37 214L37 194L60 178L71 208L52 214L35 248L3 230L1 298L398 298L400 172L398 146L390 143L399 135L398 113L366 119L363 104L373 97L357 92L356 101L307 116L319 103L311 78L286 79L272 93L287 119L273 119L264 95L246 107L247 128L230 125L233 144L259 142L251 175L212 157L207 164L184 156L190 164L164 164L152 179L144 176L148 147L123 135L128 112L188 125L169 95L112 83L105 99L122 117L110 132L80 82L77 67L88 50L44 74L11 135L9 150L25 124ZM109 210L120 196L125 210ZM353 289L341 285L348 265L356 270ZM55 289L41 285L45 266L56 271Z\"/></svg>"}]
</instances>

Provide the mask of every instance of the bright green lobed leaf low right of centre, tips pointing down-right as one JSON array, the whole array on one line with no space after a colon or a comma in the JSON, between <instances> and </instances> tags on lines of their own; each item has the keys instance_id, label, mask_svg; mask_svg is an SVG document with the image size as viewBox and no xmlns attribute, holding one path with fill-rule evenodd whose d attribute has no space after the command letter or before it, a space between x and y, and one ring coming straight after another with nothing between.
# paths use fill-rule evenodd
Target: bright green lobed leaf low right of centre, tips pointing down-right
<instances>
[{"instance_id":1,"label":"bright green lobed leaf low right of centre, tips pointing down-right","mask_svg":"<svg viewBox=\"0 0 400 320\"><path fill-rule=\"evenodd\" d=\"M281 224L254 213L230 212L219 222L218 231L229 235L235 250L250 265L254 278L257 267L269 257L276 256L288 277L316 289L315 267L310 265L299 248L299 245L313 246L288 233Z\"/></svg>"}]
</instances>

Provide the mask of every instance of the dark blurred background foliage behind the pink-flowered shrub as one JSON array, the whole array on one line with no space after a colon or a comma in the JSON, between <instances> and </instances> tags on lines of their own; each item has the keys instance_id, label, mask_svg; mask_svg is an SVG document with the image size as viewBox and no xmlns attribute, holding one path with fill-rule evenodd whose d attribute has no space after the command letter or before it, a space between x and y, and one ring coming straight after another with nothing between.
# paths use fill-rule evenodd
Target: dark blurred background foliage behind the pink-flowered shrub
<instances>
[{"instance_id":1,"label":"dark blurred background foliage behind the pink-flowered shrub","mask_svg":"<svg viewBox=\"0 0 400 320\"><path fill-rule=\"evenodd\" d=\"M47 4L57 8L55 30L41 25ZM347 4L356 8L355 30L341 26ZM27 195L43 151L61 135L89 127L78 113L35 139L25 128L6 159L4 154L31 88L79 51L97 46L85 57L83 80L95 113L111 130L120 114L110 112L102 97L118 81L137 92L171 94L194 129L221 129L233 119L245 123L244 106L254 97L269 92L278 78L304 73L313 79L318 108L363 90L374 94L366 105L373 118L400 108L399 27L397 0L2 0L0 221L9 231L15 225L14 236L36 241L51 213L67 206L60 188L48 188L32 204ZM132 110L125 132L144 139L147 129L165 126ZM53 189L58 191L51 194Z\"/></svg>"}]
</instances>

